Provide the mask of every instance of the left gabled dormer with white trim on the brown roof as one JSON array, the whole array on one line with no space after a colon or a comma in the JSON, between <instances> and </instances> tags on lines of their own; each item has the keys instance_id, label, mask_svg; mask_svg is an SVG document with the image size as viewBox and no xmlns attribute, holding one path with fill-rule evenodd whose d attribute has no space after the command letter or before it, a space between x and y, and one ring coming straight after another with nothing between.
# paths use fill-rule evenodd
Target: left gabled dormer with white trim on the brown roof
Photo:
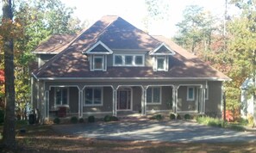
<instances>
[{"instance_id":1,"label":"left gabled dormer with white trim on the brown roof","mask_svg":"<svg viewBox=\"0 0 256 153\"><path fill-rule=\"evenodd\" d=\"M102 41L97 43L87 51L83 52L88 55L90 61L90 70L107 70L107 55L112 54L113 51L106 46Z\"/></svg>"}]
</instances>

